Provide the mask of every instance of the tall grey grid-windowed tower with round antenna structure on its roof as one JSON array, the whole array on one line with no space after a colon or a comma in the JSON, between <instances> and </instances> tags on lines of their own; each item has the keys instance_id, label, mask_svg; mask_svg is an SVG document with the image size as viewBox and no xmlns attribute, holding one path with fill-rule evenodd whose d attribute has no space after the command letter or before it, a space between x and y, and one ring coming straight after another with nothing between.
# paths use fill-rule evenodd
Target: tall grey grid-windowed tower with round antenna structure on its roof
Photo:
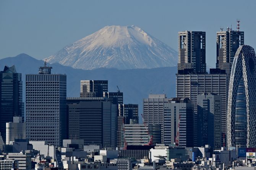
<instances>
[{"instance_id":1,"label":"tall grey grid-windowed tower with round antenna structure on its roof","mask_svg":"<svg viewBox=\"0 0 256 170\"><path fill-rule=\"evenodd\" d=\"M46 65L39 74L26 75L26 137L62 146L66 138L66 75L51 74Z\"/></svg>"}]
</instances>

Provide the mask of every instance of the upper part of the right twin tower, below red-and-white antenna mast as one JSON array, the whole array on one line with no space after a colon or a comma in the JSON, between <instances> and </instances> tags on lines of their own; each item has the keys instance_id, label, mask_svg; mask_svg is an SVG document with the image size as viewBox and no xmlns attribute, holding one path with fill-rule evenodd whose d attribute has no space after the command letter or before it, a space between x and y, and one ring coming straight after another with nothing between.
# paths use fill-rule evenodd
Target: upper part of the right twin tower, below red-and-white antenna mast
<instances>
[{"instance_id":1,"label":"upper part of the right twin tower, below red-and-white antenna mast","mask_svg":"<svg viewBox=\"0 0 256 170\"><path fill-rule=\"evenodd\" d=\"M227 28L217 32L217 62L216 68L225 70L228 78L232 68L235 53L241 45L244 44L244 32L235 31Z\"/></svg>"}]
</instances>

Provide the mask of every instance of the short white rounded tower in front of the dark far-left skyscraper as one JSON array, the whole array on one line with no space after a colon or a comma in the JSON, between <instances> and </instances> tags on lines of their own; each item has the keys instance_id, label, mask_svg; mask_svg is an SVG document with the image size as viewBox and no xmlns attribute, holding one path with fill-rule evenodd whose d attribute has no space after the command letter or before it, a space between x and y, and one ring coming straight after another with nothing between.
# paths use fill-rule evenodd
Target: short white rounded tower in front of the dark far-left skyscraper
<instances>
[{"instance_id":1,"label":"short white rounded tower in front of the dark far-left skyscraper","mask_svg":"<svg viewBox=\"0 0 256 170\"><path fill-rule=\"evenodd\" d=\"M13 117L13 122L6 123L6 145L15 139L26 139L26 123L22 117Z\"/></svg>"}]
</instances>

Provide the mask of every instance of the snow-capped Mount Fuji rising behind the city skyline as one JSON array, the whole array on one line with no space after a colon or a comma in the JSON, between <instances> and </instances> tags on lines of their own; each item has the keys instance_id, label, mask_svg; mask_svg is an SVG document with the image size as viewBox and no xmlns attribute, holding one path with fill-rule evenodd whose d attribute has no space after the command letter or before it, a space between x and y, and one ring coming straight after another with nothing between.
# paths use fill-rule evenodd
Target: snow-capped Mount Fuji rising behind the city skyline
<instances>
[{"instance_id":1,"label":"snow-capped Mount Fuji rising behind the city skyline","mask_svg":"<svg viewBox=\"0 0 256 170\"><path fill-rule=\"evenodd\" d=\"M73 68L157 68L177 65L177 51L144 30L132 26L106 26L46 58Z\"/></svg>"}]
</instances>

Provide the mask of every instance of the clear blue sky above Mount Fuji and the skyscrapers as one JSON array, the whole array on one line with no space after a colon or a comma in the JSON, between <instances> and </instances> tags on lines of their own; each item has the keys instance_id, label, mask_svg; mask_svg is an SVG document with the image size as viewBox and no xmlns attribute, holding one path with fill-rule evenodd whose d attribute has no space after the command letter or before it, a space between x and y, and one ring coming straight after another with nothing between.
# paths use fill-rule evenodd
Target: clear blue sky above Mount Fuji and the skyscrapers
<instances>
[{"instance_id":1,"label":"clear blue sky above Mount Fuji and the skyscrapers","mask_svg":"<svg viewBox=\"0 0 256 170\"><path fill-rule=\"evenodd\" d=\"M256 48L256 1L0 0L0 59L54 54L106 25L136 25L177 50L182 30L206 31L206 62L215 66L216 32L241 20Z\"/></svg>"}]
</instances>

